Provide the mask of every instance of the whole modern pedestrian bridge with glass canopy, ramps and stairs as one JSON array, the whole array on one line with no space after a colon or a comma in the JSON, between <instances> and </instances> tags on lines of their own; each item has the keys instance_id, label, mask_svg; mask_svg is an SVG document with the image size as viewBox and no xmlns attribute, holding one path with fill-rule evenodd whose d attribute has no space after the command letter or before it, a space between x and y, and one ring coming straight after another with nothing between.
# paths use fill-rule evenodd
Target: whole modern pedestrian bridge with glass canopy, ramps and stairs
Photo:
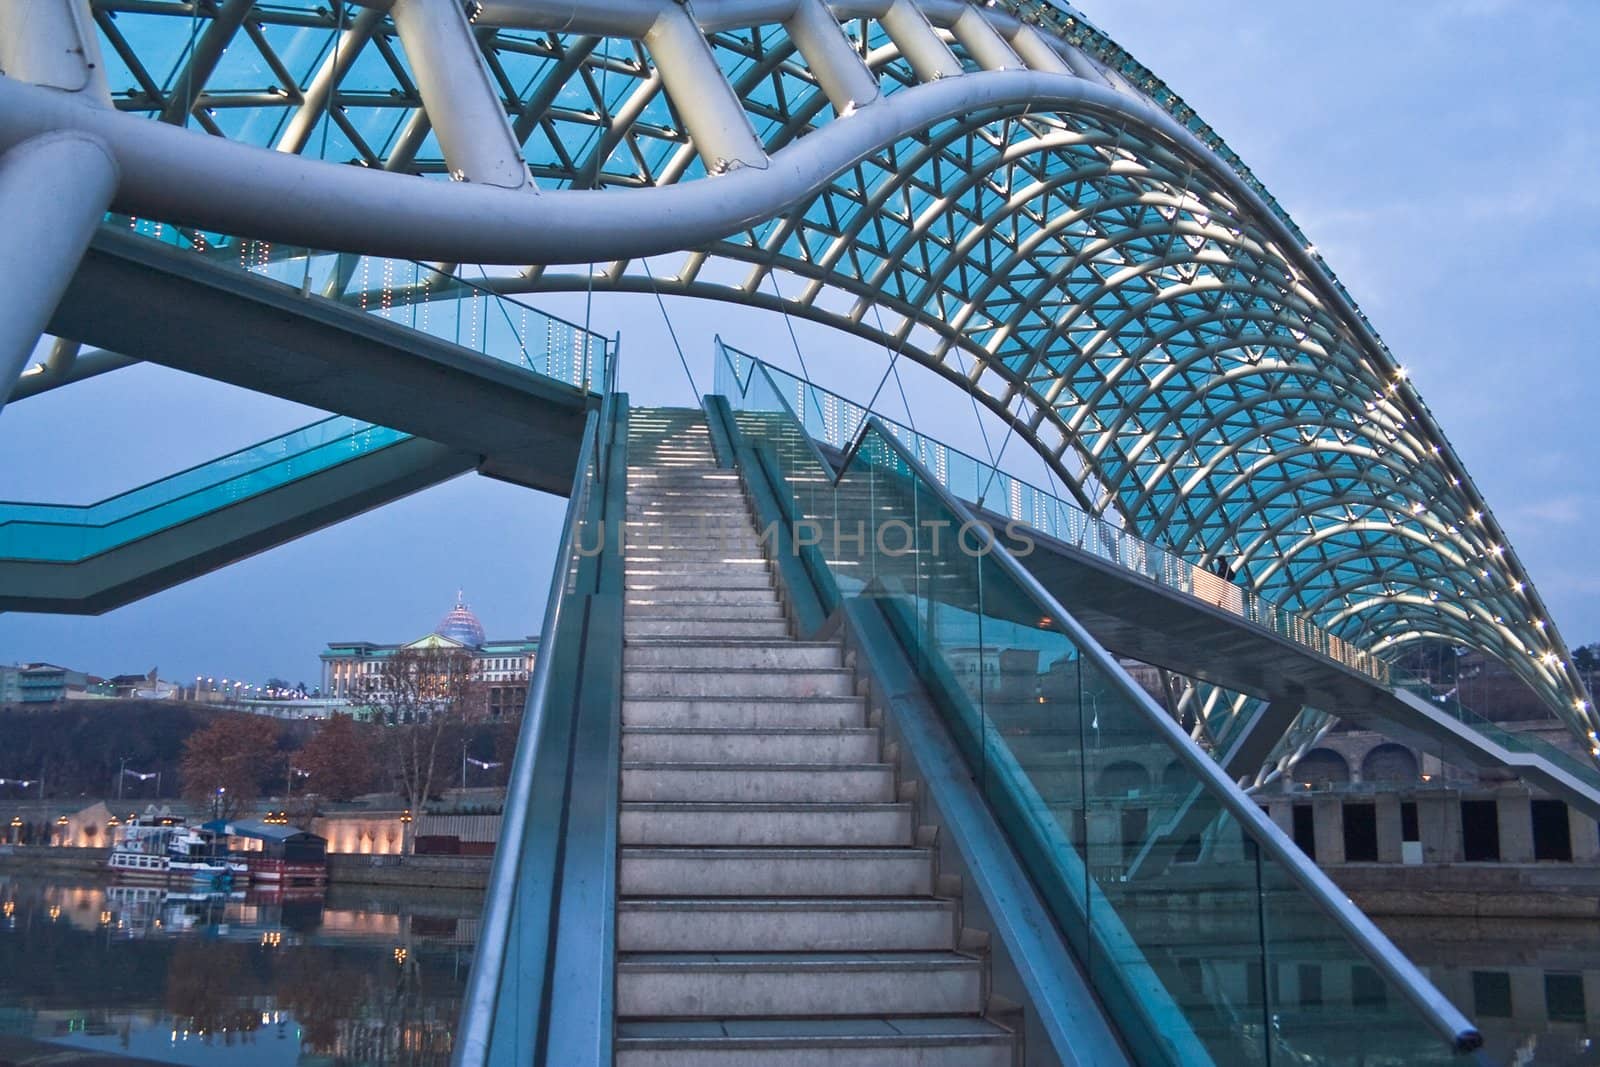
<instances>
[{"instance_id":1,"label":"whole modern pedestrian bridge with glass canopy, ramps and stairs","mask_svg":"<svg viewBox=\"0 0 1600 1067\"><path fill-rule=\"evenodd\" d=\"M467 470L568 498L459 1062L1478 1045L1245 787L1346 718L1600 813L1587 757L1400 677L1418 641L1581 752L1600 718L1331 269L1077 10L38 0L0 69L0 400L146 360L334 413L0 504L0 608ZM520 299L558 291L835 326L1051 488L726 349L699 408L634 406L614 341Z\"/></svg>"}]
</instances>

